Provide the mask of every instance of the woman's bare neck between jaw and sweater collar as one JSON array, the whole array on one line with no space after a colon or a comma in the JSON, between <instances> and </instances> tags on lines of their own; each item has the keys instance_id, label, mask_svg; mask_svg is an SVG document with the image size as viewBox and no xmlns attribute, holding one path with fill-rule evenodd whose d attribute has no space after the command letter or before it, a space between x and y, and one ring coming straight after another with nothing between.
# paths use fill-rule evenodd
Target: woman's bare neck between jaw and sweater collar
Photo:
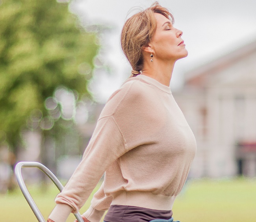
<instances>
[{"instance_id":1,"label":"woman's bare neck between jaw and sweater collar","mask_svg":"<svg viewBox=\"0 0 256 222\"><path fill-rule=\"evenodd\" d=\"M164 61L158 61L157 59L153 59L153 62L144 63L144 67L142 70L142 75L151 77L163 85L170 86L170 81L173 74L175 61L168 61L165 63Z\"/></svg>"}]
</instances>

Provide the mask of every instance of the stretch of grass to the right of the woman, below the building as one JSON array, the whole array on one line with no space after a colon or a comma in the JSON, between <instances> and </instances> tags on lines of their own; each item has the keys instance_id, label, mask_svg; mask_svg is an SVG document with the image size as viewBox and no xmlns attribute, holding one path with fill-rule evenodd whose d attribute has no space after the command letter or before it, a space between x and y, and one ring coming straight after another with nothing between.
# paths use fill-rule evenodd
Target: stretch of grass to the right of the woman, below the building
<instances>
[{"instance_id":1,"label":"stretch of grass to the right of the woman, below the building","mask_svg":"<svg viewBox=\"0 0 256 222\"><path fill-rule=\"evenodd\" d=\"M176 199L174 219L182 222L256 222L256 179L189 181Z\"/></svg>"}]
</instances>

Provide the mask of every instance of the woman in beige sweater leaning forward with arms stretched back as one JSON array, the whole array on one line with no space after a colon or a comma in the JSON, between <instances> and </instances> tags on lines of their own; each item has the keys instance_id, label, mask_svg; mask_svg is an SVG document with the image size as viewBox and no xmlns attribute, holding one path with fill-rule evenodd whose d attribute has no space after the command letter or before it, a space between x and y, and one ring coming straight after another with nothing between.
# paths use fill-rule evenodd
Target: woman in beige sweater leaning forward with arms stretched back
<instances>
[{"instance_id":1,"label":"woman in beige sweater leaning forward with arms stretched back","mask_svg":"<svg viewBox=\"0 0 256 222\"><path fill-rule=\"evenodd\" d=\"M171 13L157 2L126 21L121 44L133 78L106 103L49 221L63 222L77 213L104 172L85 221L99 222L106 210L106 222L172 218L196 150L169 87L174 63L187 56L181 36Z\"/></svg>"}]
</instances>

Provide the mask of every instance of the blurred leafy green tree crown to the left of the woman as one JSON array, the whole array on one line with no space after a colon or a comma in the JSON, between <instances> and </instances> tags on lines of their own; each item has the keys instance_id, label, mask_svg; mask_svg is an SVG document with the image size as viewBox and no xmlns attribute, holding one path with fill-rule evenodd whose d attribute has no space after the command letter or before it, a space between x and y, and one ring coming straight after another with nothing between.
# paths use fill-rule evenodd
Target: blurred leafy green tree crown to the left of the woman
<instances>
[{"instance_id":1,"label":"blurred leafy green tree crown to the left of the woman","mask_svg":"<svg viewBox=\"0 0 256 222\"><path fill-rule=\"evenodd\" d=\"M31 113L48 116L58 85L90 96L98 48L67 2L0 0L0 139L15 152Z\"/></svg>"}]
</instances>

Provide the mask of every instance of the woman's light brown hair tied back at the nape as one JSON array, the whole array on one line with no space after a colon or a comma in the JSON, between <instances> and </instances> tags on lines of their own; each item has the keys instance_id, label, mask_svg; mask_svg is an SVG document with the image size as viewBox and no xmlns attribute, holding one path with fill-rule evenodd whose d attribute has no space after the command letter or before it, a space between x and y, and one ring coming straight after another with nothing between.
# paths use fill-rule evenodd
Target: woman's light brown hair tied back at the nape
<instances>
[{"instance_id":1,"label":"woman's light brown hair tied back at the nape","mask_svg":"<svg viewBox=\"0 0 256 222\"><path fill-rule=\"evenodd\" d=\"M124 24L121 32L121 46L133 70L143 69L143 47L150 43L156 31L156 18L154 13L159 13L174 23L173 15L158 2L147 9L136 13Z\"/></svg>"}]
</instances>

